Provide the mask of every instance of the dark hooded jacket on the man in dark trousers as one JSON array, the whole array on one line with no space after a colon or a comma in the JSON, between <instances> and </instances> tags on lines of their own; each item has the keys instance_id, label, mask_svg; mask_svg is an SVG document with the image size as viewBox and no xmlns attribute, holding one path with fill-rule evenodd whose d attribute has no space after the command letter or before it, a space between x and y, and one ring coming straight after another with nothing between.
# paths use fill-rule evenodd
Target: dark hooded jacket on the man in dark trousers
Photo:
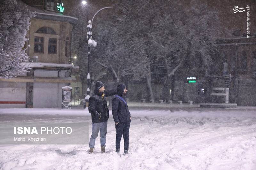
<instances>
[{"instance_id":1,"label":"dark hooded jacket on the man in dark trousers","mask_svg":"<svg viewBox=\"0 0 256 170\"><path fill-rule=\"evenodd\" d=\"M126 86L124 84L119 84L117 86L117 96L115 95L112 100L112 114L113 114L115 123L128 122L131 120L130 119L131 114L128 109L126 99L123 96L125 87Z\"/></svg>"}]
</instances>

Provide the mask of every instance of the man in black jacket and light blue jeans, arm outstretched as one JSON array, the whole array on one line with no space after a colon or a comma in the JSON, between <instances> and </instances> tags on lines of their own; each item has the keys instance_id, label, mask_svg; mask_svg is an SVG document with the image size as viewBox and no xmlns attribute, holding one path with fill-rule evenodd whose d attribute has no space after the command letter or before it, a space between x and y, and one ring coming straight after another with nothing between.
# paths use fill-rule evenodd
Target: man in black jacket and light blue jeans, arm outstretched
<instances>
[{"instance_id":1,"label":"man in black jacket and light blue jeans, arm outstretched","mask_svg":"<svg viewBox=\"0 0 256 170\"><path fill-rule=\"evenodd\" d=\"M92 114L92 136L89 143L89 153L93 153L95 139L98 137L99 131L101 152L105 153L107 124L109 118L106 97L116 94L116 90L104 90L104 84L101 81L97 81L94 92L89 98L89 112Z\"/></svg>"}]
</instances>

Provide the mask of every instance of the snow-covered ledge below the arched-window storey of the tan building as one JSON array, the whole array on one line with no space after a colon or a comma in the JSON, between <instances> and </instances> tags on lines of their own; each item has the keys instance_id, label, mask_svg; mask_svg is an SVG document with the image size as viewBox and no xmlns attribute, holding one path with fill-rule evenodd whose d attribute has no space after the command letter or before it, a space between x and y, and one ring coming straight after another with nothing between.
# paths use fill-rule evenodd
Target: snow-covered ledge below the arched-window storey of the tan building
<instances>
[{"instance_id":1,"label":"snow-covered ledge below the arched-window storey of the tan building","mask_svg":"<svg viewBox=\"0 0 256 170\"><path fill-rule=\"evenodd\" d=\"M59 64L59 63L41 63L41 62L27 62L22 63L25 67L62 67L62 68L73 68L72 64ZM77 66L76 66L77 67Z\"/></svg>"}]
</instances>

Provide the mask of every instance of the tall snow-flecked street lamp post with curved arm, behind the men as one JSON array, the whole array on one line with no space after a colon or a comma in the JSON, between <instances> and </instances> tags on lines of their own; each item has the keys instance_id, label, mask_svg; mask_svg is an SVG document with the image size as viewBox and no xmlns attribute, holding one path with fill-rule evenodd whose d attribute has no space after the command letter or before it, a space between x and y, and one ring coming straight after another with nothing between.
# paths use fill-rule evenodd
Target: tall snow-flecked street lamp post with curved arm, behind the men
<instances>
[{"instance_id":1,"label":"tall snow-flecked street lamp post with curved arm, behind the men","mask_svg":"<svg viewBox=\"0 0 256 170\"><path fill-rule=\"evenodd\" d=\"M82 4L87 4L86 1L82 1ZM94 16L92 17L92 21L96 14L100 12L101 10L107 9L107 8L113 8L113 6L101 8L99 11L97 11ZM88 10L87 10L87 20L88 20ZM87 40L88 40L88 67L87 67L87 96L85 98L90 97L90 88L91 88L91 76L90 76L90 56L91 56L91 47L96 47L97 42L92 39L92 21L88 21L87 25Z\"/></svg>"}]
</instances>

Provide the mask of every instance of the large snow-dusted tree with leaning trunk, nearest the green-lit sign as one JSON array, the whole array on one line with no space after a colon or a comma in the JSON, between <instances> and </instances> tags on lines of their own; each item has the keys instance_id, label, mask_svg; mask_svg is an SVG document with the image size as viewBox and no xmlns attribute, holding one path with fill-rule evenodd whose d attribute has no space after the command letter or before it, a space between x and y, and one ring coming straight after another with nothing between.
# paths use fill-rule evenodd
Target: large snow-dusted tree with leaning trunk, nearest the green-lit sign
<instances>
[{"instance_id":1,"label":"large snow-dusted tree with leaning trunk, nearest the green-lit sign","mask_svg":"<svg viewBox=\"0 0 256 170\"><path fill-rule=\"evenodd\" d=\"M171 78L185 60L190 62L199 53L204 71L211 64L210 54L215 46L218 15L197 0L191 1L190 5L173 0L157 0L144 8L145 11L158 13L149 18L152 20L152 29L146 34L155 47L154 55L166 69L162 96L167 96L163 99L168 101Z\"/></svg>"}]
</instances>

